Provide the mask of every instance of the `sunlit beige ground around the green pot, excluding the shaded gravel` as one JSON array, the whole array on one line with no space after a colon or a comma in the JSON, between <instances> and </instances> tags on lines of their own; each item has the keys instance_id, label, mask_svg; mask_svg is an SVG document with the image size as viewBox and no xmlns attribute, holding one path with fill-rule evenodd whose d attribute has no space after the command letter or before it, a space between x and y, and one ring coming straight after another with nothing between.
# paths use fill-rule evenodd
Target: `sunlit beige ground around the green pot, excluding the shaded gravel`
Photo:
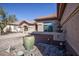
<instances>
[{"instance_id":1,"label":"sunlit beige ground around the green pot, excluding the shaded gravel","mask_svg":"<svg viewBox=\"0 0 79 59\"><path fill-rule=\"evenodd\" d=\"M25 56L41 56L42 54L36 46L34 46L35 49L30 53L29 51L25 50L23 46L23 36L25 36L25 34L22 33L12 33L0 36L0 56L16 56L18 51L23 51ZM9 46L13 50L6 52Z\"/></svg>"}]
</instances>

